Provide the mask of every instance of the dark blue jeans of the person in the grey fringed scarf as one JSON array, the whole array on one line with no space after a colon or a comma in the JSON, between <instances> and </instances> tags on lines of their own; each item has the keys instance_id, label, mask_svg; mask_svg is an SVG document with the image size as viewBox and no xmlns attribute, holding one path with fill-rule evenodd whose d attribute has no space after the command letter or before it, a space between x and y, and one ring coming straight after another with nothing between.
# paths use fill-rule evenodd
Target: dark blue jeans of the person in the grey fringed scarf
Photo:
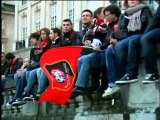
<instances>
[{"instance_id":1,"label":"dark blue jeans of the person in the grey fringed scarf","mask_svg":"<svg viewBox=\"0 0 160 120\"><path fill-rule=\"evenodd\" d=\"M142 34L132 35L119 41L115 45L115 54L118 56L116 58L118 64L121 64L123 65L122 67L126 68L126 74L134 77L138 76L138 57L140 56L139 53L141 36ZM125 51L127 51L127 53ZM119 53L122 53L125 56L118 55ZM126 60L127 64L123 64L124 59Z\"/></svg>"}]
</instances>

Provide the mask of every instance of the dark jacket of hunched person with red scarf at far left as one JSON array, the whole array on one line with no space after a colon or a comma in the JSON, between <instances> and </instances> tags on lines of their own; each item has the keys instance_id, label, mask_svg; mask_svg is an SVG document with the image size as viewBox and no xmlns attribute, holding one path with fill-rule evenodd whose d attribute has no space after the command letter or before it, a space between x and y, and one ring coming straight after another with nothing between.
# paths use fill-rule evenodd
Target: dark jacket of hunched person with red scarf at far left
<instances>
[{"instance_id":1,"label":"dark jacket of hunched person with red scarf at far left","mask_svg":"<svg viewBox=\"0 0 160 120\"><path fill-rule=\"evenodd\" d=\"M9 68L5 71L5 76L14 76L14 74L17 72L18 69L21 68L23 65L23 59L22 58L16 58L15 64L13 65L13 68L11 69L11 62L9 63Z\"/></svg>"}]
</instances>

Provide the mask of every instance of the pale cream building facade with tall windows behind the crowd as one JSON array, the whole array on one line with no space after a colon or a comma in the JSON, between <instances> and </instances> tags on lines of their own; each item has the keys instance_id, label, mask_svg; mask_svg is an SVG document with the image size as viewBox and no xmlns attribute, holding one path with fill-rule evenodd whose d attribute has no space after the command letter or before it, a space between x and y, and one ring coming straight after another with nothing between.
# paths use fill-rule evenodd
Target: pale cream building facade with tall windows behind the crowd
<instances>
[{"instance_id":1,"label":"pale cream building facade with tall windows behind the crowd","mask_svg":"<svg viewBox=\"0 0 160 120\"><path fill-rule=\"evenodd\" d=\"M146 1L155 8L153 1ZM74 29L80 30L81 11L90 9L94 11L98 7L106 7L109 4L117 4L122 7L123 2L117 1L15 1L15 30L12 51L28 48L30 46L29 35L40 28L61 27L63 19L72 20Z\"/></svg>"}]
</instances>

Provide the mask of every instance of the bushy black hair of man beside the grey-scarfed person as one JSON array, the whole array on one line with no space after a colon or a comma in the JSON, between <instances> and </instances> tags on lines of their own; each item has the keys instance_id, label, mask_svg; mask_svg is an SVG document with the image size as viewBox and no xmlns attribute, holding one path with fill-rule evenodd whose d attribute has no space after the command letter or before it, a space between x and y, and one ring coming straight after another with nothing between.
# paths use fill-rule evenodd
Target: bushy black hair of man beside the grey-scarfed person
<instances>
[{"instance_id":1,"label":"bushy black hair of man beside the grey-scarfed person","mask_svg":"<svg viewBox=\"0 0 160 120\"><path fill-rule=\"evenodd\" d=\"M106 11L109 11L111 14L115 14L116 17L119 17L121 15L121 10L116 5L109 5L106 8L104 8L103 13L105 14Z\"/></svg>"}]
</instances>

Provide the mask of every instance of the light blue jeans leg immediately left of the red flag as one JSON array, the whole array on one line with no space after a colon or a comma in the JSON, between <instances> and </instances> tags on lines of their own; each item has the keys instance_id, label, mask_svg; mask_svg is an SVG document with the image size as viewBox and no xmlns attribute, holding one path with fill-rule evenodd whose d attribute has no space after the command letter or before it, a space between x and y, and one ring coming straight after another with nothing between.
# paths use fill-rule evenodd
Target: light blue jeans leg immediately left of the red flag
<instances>
[{"instance_id":1,"label":"light blue jeans leg immediately left of the red flag","mask_svg":"<svg viewBox=\"0 0 160 120\"><path fill-rule=\"evenodd\" d=\"M38 77L38 90L37 93L41 94L48 85L47 76L44 74L42 68L38 68L37 70L37 77Z\"/></svg>"}]
</instances>

